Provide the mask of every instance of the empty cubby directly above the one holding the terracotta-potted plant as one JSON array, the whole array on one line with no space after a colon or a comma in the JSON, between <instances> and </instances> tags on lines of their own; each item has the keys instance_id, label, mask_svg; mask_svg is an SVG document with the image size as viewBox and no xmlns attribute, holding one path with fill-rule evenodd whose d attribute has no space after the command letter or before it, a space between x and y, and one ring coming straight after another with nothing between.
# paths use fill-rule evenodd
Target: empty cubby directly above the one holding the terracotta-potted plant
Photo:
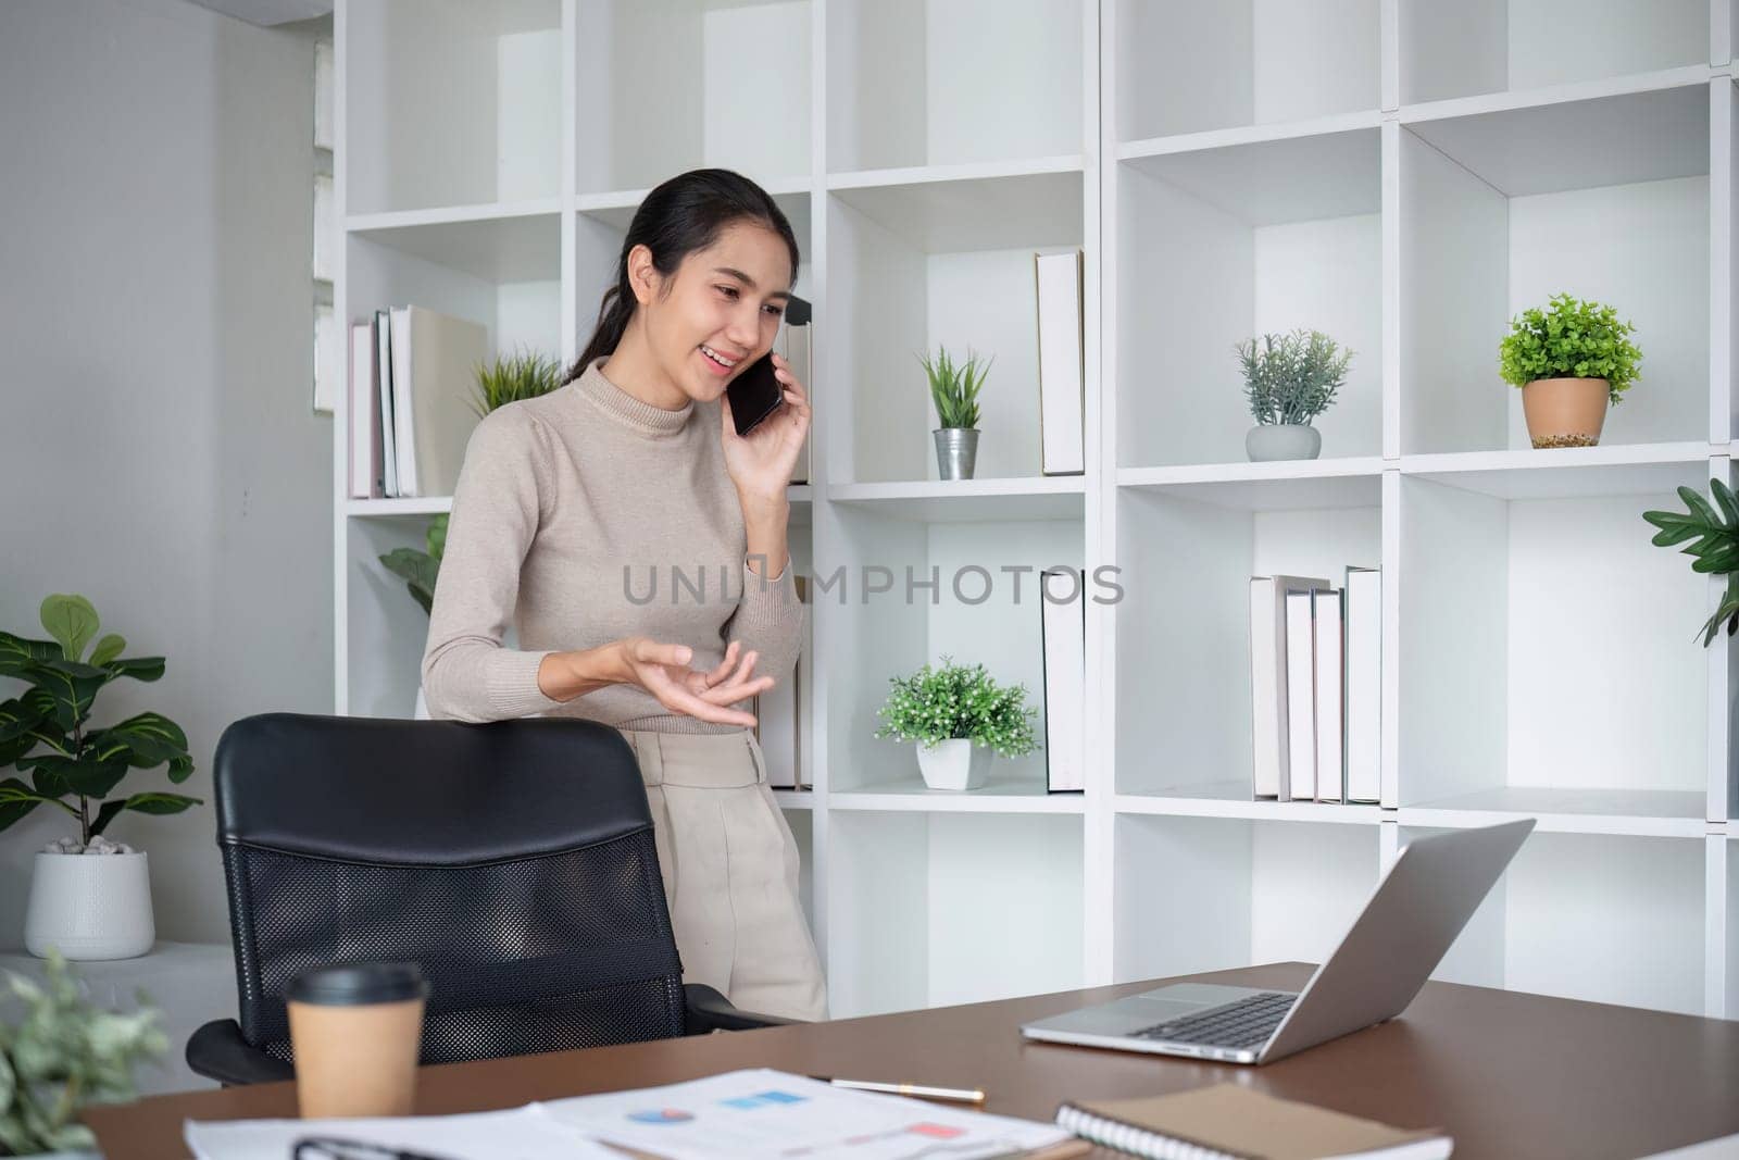
<instances>
[{"instance_id":1,"label":"empty cubby directly above the one holding the terracotta-potted plant","mask_svg":"<svg viewBox=\"0 0 1739 1160\"><path fill-rule=\"evenodd\" d=\"M1400 99L1525 92L1708 64L1709 2L1398 0Z\"/></svg>"}]
</instances>

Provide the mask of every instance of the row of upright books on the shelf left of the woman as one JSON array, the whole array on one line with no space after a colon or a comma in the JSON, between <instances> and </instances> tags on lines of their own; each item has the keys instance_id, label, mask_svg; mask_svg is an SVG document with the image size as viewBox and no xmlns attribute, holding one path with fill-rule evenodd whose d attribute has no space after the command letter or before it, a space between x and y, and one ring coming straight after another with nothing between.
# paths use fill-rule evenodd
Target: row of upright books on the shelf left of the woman
<instances>
[{"instance_id":1,"label":"row of upright books on the shelf left of the woman","mask_svg":"<svg viewBox=\"0 0 1739 1160\"><path fill-rule=\"evenodd\" d=\"M350 496L452 496L476 428L489 332L423 306L350 329Z\"/></svg>"}]
</instances>

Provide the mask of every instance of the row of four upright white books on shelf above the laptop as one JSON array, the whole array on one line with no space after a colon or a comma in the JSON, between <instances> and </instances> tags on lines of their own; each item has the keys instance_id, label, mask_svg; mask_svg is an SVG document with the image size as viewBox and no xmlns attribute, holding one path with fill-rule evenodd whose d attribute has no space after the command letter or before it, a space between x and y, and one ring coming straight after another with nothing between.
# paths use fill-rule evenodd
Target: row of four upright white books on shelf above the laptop
<instances>
[{"instance_id":1,"label":"row of four upright white books on shelf above the laptop","mask_svg":"<svg viewBox=\"0 0 1739 1160\"><path fill-rule=\"evenodd\" d=\"M1254 797L1383 797L1383 574L1250 577Z\"/></svg>"}]
</instances>

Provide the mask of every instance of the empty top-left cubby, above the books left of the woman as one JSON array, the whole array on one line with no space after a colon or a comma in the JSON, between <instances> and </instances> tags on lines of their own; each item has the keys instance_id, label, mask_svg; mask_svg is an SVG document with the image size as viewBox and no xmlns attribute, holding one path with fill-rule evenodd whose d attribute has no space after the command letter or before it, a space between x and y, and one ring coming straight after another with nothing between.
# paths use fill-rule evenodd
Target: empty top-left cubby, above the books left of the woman
<instances>
[{"instance_id":1,"label":"empty top-left cubby, above the books left of the woman","mask_svg":"<svg viewBox=\"0 0 1739 1160\"><path fill-rule=\"evenodd\" d=\"M346 212L560 197L562 0L379 0L343 21Z\"/></svg>"}]
</instances>

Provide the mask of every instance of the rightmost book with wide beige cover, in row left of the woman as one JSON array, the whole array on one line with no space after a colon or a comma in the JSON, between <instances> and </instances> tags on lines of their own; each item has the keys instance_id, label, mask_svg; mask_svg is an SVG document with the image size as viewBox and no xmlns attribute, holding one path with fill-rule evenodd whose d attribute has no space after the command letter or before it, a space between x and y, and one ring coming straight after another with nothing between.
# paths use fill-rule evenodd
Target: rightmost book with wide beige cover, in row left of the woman
<instances>
[{"instance_id":1,"label":"rightmost book with wide beige cover, in row left of the woman","mask_svg":"<svg viewBox=\"0 0 1739 1160\"><path fill-rule=\"evenodd\" d=\"M478 423L473 384L489 332L423 306L393 308L391 329L398 494L450 496Z\"/></svg>"}]
</instances>

